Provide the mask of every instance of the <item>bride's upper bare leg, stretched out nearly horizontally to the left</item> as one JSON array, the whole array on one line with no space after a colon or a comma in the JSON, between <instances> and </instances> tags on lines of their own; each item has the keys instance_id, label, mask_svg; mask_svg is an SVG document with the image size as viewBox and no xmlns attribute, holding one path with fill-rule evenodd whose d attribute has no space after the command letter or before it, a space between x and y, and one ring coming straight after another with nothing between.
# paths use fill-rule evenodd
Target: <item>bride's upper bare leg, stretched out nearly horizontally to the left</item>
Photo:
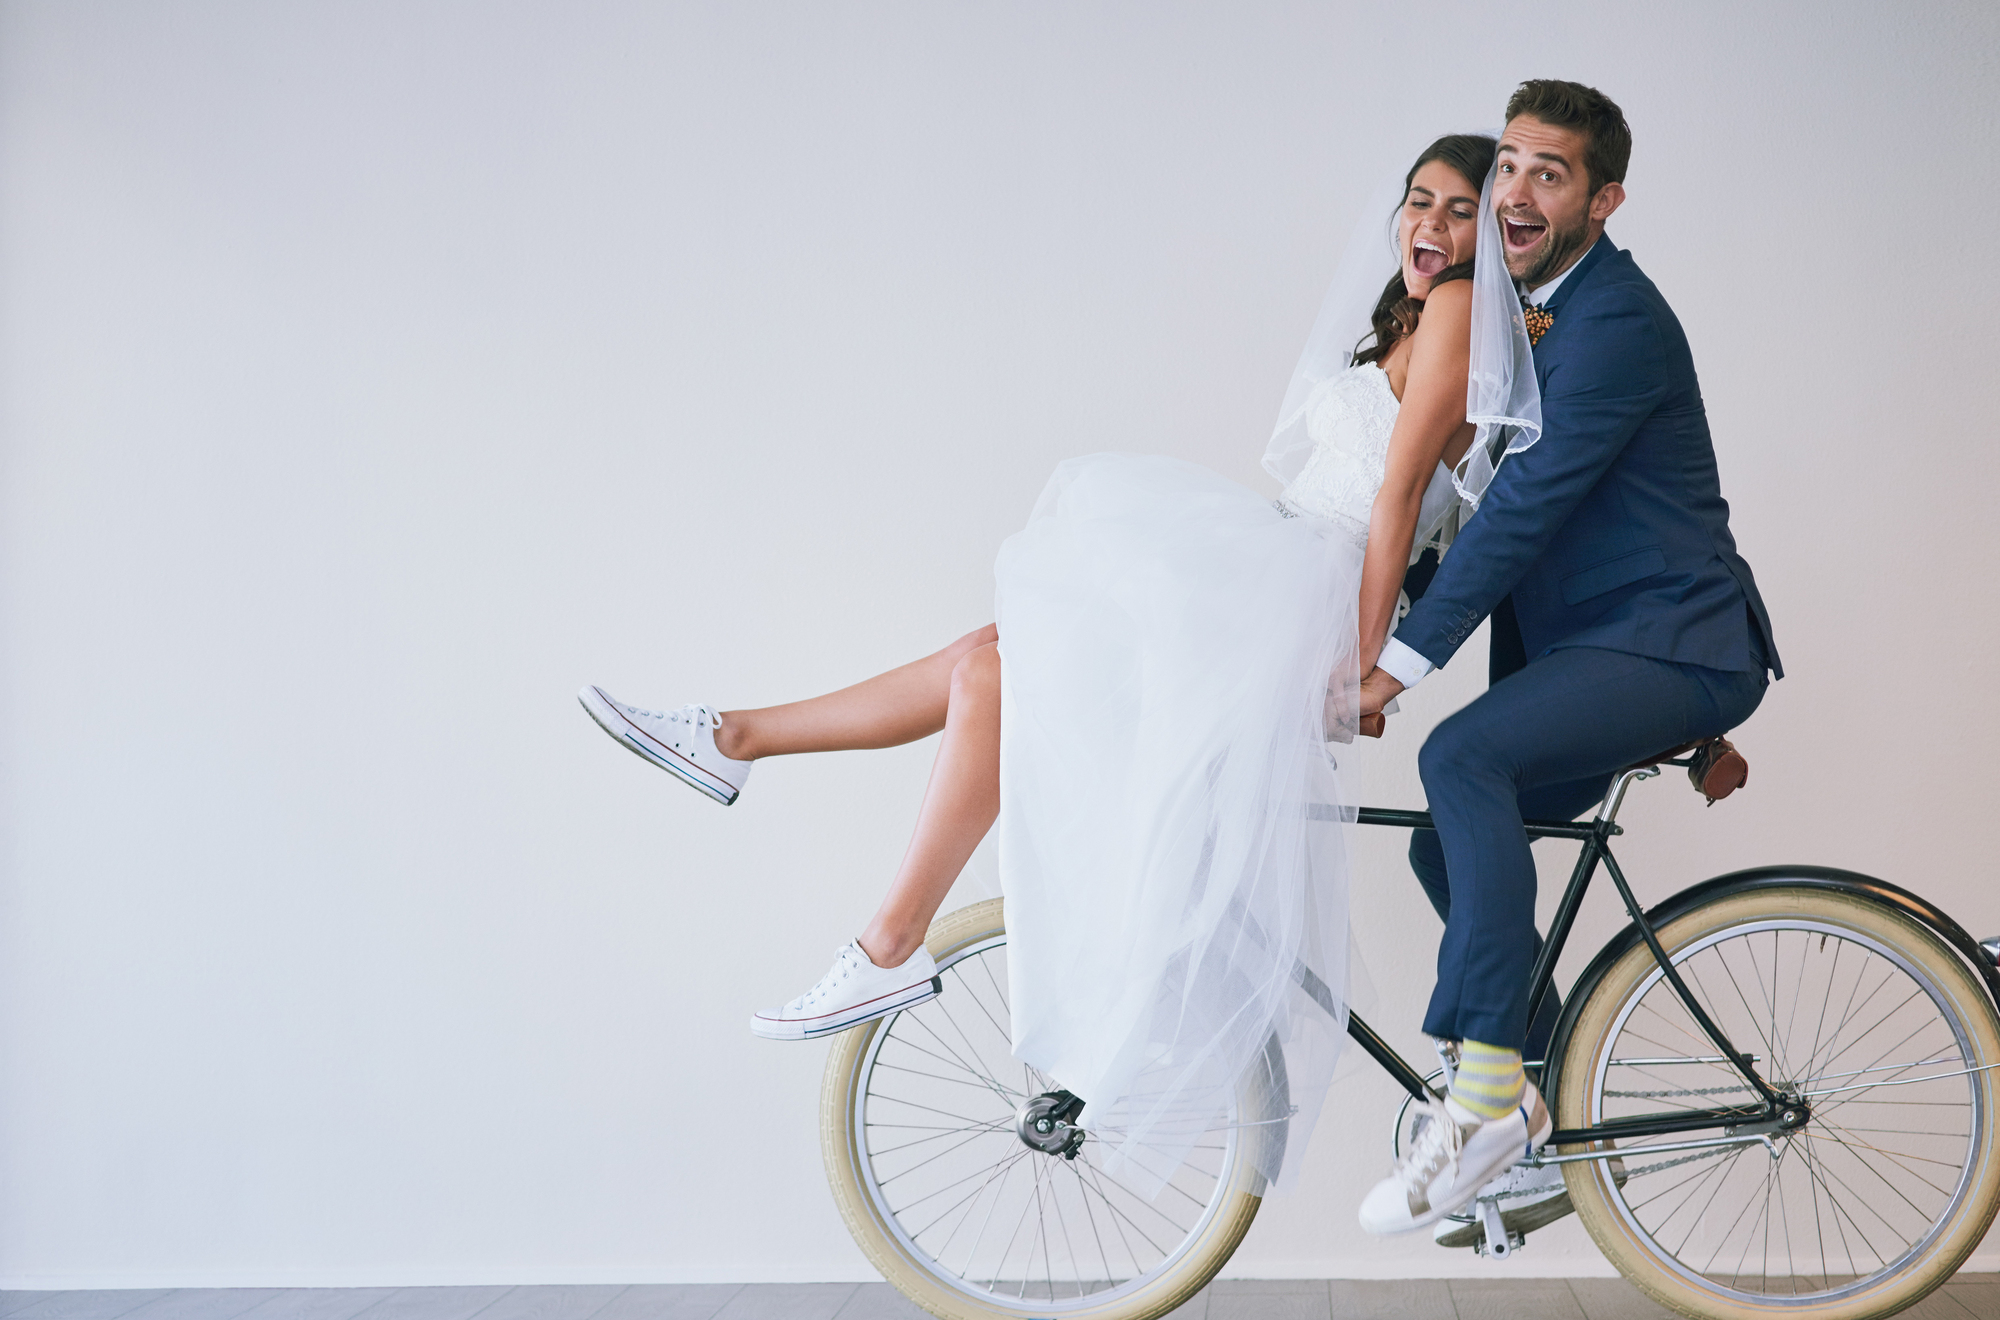
<instances>
[{"instance_id":1,"label":"bride's upper bare leg, stretched out nearly horizontally to the left","mask_svg":"<svg viewBox=\"0 0 2000 1320\"><path fill-rule=\"evenodd\" d=\"M1000 632L986 624L934 656L876 674L852 688L786 706L724 710L722 728L716 730L716 750L732 760L758 760L792 752L892 748L928 738L946 728L952 672L958 662L982 646L992 650L998 638ZM998 748L998 734L994 746ZM942 750L938 758L942 764Z\"/></svg>"}]
</instances>

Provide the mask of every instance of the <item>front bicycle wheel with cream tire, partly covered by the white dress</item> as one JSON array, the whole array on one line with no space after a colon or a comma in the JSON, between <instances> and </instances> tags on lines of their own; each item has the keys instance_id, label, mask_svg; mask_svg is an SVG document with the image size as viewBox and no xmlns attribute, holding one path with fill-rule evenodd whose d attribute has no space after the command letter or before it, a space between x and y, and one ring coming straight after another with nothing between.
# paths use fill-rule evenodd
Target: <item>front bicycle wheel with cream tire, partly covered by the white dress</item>
<instances>
[{"instance_id":1,"label":"front bicycle wheel with cream tire, partly covered by the white dress","mask_svg":"<svg viewBox=\"0 0 2000 1320\"><path fill-rule=\"evenodd\" d=\"M1150 1320L1186 1302L1256 1218L1254 1142L1282 1142L1286 1114L1252 1096L1284 1088L1246 1084L1166 1190L1140 1196L1096 1140L1068 1160L1016 1132L1058 1084L1012 1058L1000 900L940 918L928 946L944 994L846 1032L826 1062L820 1148L862 1252L944 1320ZM1282 1072L1282 1054L1264 1066Z\"/></svg>"}]
</instances>

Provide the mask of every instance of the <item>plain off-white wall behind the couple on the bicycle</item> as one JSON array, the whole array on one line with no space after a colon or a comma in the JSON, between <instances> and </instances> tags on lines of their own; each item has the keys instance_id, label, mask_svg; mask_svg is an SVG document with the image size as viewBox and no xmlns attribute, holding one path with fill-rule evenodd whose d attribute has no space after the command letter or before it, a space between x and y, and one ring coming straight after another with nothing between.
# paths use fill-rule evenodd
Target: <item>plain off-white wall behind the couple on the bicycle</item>
<instances>
[{"instance_id":1,"label":"plain off-white wall behind the couple on the bicycle","mask_svg":"<svg viewBox=\"0 0 2000 1320\"><path fill-rule=\"evenodd\" d=\"M1996 14L6 4L0 1286L866 1276L826 1046L744 1016L930 744L722 810L572 692L930 650L1068 454L1260 482L1360 198L1524 76L1634 124L1612 232L1792 670L1748 792L1638 794L1642 890L1816 860L2000 932ZM1420 1050L1398 844L1356 920ZM1236 1272L1476 1268L1354 1228L1392 1100L1340 1088ZM1604 1272L1574 1222L1510 1268Z\"/></svg>"}]
</instances>

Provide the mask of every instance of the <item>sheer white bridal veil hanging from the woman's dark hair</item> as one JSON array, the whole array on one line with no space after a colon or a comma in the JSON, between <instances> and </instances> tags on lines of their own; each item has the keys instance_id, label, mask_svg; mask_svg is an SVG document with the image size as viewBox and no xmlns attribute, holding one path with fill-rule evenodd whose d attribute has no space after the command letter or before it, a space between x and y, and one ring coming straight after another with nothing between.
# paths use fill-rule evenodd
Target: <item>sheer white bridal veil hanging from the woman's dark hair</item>
<instances>
[{"instance_id":1,"label":"sheer white bridal veil hanging from the woman's dark hair","mask_svg":"<svg viewBox=\"0 0 2000 1320\"><path fill-rule=\"evenodd\" d=\"M1488 134L1496 136L1496 134ZM1506 272L1500 222L1492 208L1494 172L1480 188L1480 238L1472 258L1472 370L1466 380L1466 420L1478 436L1452 474L1458 494L1478 508L1508 454L1518 454L1542 438L1542 396L1534 384L1534 348L1520 314L1520 296ZM1338 376L1354 360L1354 348L1368 334L1368 314L1402 260L1396 220L1402 208L1402 180L1396 178L1368 196L1362 222L1348 240L1346 256L1326 290L1320 316L1298 356L1292 384L1278 408L1278 426L1264 450L1264 470L1290 482L1312 454L1306 434L1308 400L1322 380Z\"/></svg>"}]
</instances>

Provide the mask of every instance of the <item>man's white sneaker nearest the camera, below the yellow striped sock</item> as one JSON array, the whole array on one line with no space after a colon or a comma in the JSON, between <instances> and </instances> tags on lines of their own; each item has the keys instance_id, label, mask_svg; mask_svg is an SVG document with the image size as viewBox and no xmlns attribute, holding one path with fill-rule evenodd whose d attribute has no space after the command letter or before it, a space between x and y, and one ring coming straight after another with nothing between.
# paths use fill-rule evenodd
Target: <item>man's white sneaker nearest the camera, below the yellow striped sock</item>
<instances>
[{"instance_id":1,"label":"man's white sneaker nearest the camera, below the yellow striped sock","mask_svg":"<svg viewBox=\"0 0 2000 1320\"><path fill-rule=\"evenodd\" d=\"M1462 1210L1556 1128L1532 1082L1506 1118L1480 1118L1450 1096L1432 1100L1426 1118L1396 1172L1362 1200L1368 1232L1408 1232Z\"/></svg>"}]
</instances>

